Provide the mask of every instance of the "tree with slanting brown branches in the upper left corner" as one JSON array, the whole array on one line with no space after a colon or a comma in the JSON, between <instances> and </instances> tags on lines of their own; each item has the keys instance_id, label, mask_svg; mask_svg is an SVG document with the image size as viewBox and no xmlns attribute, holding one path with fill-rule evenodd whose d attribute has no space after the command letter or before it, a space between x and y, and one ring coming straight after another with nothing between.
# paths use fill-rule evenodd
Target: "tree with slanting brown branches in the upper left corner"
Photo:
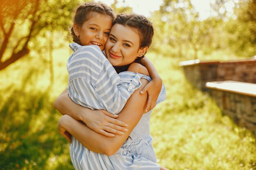
<instances>
[{"instance_id":1,"label":"tree with slanting brown branches in the upper left corner","mask_svg":"<svg viewBox=\"0 0 256 170\"><path fill-rule=\"evenodd\" d=\"M3 0L0 3L0 70L31 49L46 31L66 30L78 0Z\"/></svg>"}]
</instances>

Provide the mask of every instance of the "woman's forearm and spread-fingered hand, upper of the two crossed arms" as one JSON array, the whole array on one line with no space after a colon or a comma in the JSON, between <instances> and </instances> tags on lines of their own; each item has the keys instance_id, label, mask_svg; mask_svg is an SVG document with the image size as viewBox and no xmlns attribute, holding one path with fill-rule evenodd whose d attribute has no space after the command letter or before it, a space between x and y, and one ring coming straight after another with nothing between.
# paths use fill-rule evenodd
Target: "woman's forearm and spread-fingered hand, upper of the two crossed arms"
<instances>
[{"instance_id":1,"label":"woman's forearm and spread-fingered hand, upper of the two crossed arms","mask_svg":"<svg viewBox=\"0 0 256 170\"><path fill-rule=\"evenodd\" d=\"M69 115L78 121L83 121L90 129L108 137L114 134L122 135L126 132L126 122L116 119L118 115L106 110L91 110L74 103L65 89L54 101L56 108L62 115Z\"/></svg>"}]
</instances>

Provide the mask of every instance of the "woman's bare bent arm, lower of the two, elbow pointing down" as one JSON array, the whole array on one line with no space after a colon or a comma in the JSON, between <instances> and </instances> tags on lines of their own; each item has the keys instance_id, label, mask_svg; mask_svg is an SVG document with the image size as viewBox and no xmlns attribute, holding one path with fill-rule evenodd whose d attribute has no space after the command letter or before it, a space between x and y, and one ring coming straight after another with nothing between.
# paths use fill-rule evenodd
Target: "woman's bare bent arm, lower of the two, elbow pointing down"
<instances>
[{"instance_id":1,"label":"woman's bare bent arm, lower of the two, elbow pointing down","mask_svg":"<svg viewBox=\"0 0 256 170\"><path fill-rule=\"evenodd\" d=\"M124 109L119 113L117 119L126 121L128 131L124 135L115 135L115 137L106 137L94 132L85 124L76 121L68 115L64 115L59 121L59 127L67 130L71 135L78 139L89 150L93 152L103 153L105 155L113 155L126 141L130 132L137 125L144 113L147 101L146 94L139 94L139 91L146 85L148 81L141 79L141 87L136 90L128 99ZM63 132L63 130L61 130Z\"/></svg>"}]
</instances>

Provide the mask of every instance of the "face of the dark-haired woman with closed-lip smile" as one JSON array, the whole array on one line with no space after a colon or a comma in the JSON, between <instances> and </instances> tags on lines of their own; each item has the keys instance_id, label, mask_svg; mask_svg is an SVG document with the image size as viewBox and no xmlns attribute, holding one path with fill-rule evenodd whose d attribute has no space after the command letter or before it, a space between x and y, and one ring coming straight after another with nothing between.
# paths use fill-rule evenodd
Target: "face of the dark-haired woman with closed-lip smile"
<instances>
[{"instance_id":1,"label":"face of the dark-haired woman with closed-lip smile","mask_svg":"<svg viewBox=\"0 0 256 170\"><path fill-rule=\"evenodd\" d=\"M139 35L134 29L121 24L112 26L105 47L106 57L112 66L124 66L134 62L148 47L139 48Z\"/></svg>"}]
</instances>

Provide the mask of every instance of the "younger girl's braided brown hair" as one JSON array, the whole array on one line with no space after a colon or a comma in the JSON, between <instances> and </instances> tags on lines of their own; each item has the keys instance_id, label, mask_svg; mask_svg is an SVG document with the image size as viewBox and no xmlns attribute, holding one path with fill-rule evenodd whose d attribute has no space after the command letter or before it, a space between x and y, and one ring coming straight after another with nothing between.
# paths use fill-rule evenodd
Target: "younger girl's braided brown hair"
<instances>
[{"instance_id":1,"label":"younger girl's braided brown hair","mask_svg":"<svg viewBox=\"0 0 256 170\"><path fill-rule=\"evenodd\" d=\"M92 15L89 15L90 12L97 12L99 14L108 15L110 16L110 18L112 18L112 21L115 20L115 13L113 12L111 7L103 3L89 2L81 4L76 9L73 23L77 24L78 26L83 26L83 23L92 17ZM71 28L71 35L73 41L81 45L79 38L74 33L73 26Z\"/></svg>"}]
</instances>

